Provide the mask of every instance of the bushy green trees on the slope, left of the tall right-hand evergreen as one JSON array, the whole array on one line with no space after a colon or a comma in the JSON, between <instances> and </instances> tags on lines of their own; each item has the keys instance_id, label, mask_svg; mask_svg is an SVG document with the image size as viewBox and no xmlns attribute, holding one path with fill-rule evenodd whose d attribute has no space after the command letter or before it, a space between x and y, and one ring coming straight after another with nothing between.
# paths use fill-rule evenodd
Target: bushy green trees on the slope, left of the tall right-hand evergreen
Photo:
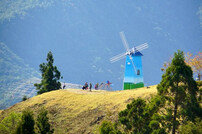
<instances>
[{"instance_id":1,"label":"bushy green trees on the slope, left of the tall right-hand evergreen","mask_svg":"<svg viewBox=\"0 0 202 134\"><path fill-rule=\"evenodd\" d=\"M127 108L119 113L119 121L124 126L124 131L133 134L165 134L165 129L159 126L158 110L163 107L164 99L155 96L146 103L138 98L127 105Z\"/></svg>"}]
</instances>

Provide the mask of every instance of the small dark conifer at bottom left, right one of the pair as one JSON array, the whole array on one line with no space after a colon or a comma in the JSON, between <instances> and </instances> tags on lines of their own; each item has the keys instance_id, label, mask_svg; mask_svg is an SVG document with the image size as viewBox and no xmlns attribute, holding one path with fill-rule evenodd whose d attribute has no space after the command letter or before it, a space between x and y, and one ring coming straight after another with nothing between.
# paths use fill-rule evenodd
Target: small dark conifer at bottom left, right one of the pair
<instances>
[{"instance_id":1,"label":"small dark conifer at bottom left, right one of the pair","mask_svg":"<svg viewBox=\"0 0 202 134\"><path fill-rule=\"evenodd\" d=\"M50 124L48 122L47 117L48 111L42 108L40 110L40 113L37 116L37 129L39 134L52 134L54 132L54 129L50 128Z\"/></svg>"}]
</instances>

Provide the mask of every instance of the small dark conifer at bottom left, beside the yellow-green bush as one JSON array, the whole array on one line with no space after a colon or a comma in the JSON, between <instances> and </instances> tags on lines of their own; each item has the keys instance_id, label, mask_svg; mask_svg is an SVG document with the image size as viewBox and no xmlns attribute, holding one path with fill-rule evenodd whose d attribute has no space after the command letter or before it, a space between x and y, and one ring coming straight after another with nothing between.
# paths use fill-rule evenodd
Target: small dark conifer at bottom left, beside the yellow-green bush
<instances>
[{"instance_id":1,"label":"small dark conifer at bottom left, beside the yellow-green bush","mask_svg":"<svg viewBox=\"0 0 202 134\"><path fill-rule=\"evenodd\" d=\"M22 119L17 127L16 134L35 134L34 124L33 112L30 110L24 110L22 112Z\"/></svg>"}]
</instances>

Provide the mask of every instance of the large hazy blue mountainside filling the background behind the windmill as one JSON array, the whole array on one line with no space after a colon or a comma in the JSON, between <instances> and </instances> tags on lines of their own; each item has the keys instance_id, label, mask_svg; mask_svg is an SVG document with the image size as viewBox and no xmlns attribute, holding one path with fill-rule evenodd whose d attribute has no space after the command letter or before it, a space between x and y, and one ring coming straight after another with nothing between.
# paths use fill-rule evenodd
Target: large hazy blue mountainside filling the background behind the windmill
<instances>
[{"instance_id":1,"label":"large hazy blue mountainside filling the background behind the windmill","mask_svg":"<svg viewBox=\"0 0 202 134\"><path fill-rule=\"evenodd\" d=\"M27 7L1 20L0 42L35 70L52 51L63 82L109 80L121 90L125 60L109 61L125 52L120 31L130 47L149 44L142 51L145 85L160 82L160 68L178 49L201 51L200 0L51 0ZM0 17L7 13L2 10Z\"/></svg>"}]
</instances>

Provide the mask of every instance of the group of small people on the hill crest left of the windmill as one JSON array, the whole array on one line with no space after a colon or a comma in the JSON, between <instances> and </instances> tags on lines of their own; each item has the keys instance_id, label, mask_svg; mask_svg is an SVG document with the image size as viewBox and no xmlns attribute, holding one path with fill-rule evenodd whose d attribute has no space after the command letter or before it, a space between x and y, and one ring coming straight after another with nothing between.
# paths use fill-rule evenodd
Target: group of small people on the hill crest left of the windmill
<instances>
[{"instance_id":1,"label":"group of small people on the hill crest left of the windmill","mask_svg":"<svg viewBox=\"0 0 202 134\"><path fill-rule=\"evenodd\" d=\"M110 84L112 84L112 83L109 82L109 81L107 81L106 84L101 83L100 85L99 85L99 83L96 83L96 84L95 84L95 90L98 90L98 88L102 89L103 86L107 86L107 88L109 88L109 87L110 87ZM92 91L92 90L91 90L91 89L92 89L92 83L89 83L89 85L88 85L88 82L86 82L86 83L83 85L83 87L82 87L83 90L87 90L88 88L89 88L90 91Z\"/></svg>"}]
</instances>

